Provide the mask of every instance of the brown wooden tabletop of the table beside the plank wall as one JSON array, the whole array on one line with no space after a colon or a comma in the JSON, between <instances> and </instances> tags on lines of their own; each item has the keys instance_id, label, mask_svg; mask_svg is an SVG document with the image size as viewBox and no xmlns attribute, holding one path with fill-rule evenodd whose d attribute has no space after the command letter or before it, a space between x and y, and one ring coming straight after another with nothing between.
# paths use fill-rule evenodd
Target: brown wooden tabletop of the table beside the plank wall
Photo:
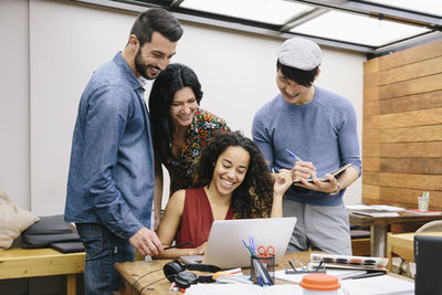
<instances>
[{"instance_id":1,"label":"brown wooden tabletop of the table beside the plank wall","mask_svg":"<svg viewBox=\"0 0 442 295\"><path fill-rule=\"evenodd\" d=\"M388 224L408 223L408 222L425 222L425 221L442 219L442 215L419 215L404 212L399 212L399 217L382 217L382 218L373 218L349 212L349 217L351 224L360 226L388 225Z\"/></svg>"}]
</instances>

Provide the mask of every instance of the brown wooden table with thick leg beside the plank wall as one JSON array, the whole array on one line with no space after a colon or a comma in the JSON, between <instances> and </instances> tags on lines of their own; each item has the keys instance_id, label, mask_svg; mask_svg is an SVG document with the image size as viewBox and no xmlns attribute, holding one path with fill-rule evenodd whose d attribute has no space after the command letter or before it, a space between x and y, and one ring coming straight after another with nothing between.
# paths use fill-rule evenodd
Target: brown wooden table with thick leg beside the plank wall
<instances>
[{"instance_id":1,"label":"brown wooden table with thick leg beside the plank wall","mask_svg":"<svg viewBox=\"0 0 442 295\"><path fill-rule=\"evenodd\" d=\"M349 212L350 223L370 226L370 255L386 257L388 225L402 223L429 222L442 219L442 215L419 215L400 212L399 217L372 218Z\"/></svg>"}]
</instances>

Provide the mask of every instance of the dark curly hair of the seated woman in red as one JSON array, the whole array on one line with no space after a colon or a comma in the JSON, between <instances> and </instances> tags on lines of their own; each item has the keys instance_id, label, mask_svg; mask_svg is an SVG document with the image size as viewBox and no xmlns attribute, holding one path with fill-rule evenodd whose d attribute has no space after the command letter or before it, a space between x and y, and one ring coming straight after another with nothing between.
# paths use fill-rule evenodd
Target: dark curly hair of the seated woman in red
<instances>
[{"instance_id":1,"label":"dark curly hair of the seated woman in red","mask_svg":"<svg viewBox=\"0 0 442 295\"><path fill-rule=\"evenodd\" d=\"M270 217L273 203L273 181L269 166L256 145L240 131L217 134L201 151L194 168L196 187L209 186L218 157L229 147L242 147L250 155L243 182L233 191L234 219Z\"/></svg>"}]
</instances>

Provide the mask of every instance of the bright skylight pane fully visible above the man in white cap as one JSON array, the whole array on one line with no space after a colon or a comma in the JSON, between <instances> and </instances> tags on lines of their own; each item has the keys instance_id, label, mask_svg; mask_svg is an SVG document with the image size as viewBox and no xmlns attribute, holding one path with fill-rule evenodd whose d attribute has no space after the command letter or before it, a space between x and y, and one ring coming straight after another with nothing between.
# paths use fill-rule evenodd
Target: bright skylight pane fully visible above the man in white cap
<instances>
[{"instance_id":1,"label":"bright skylight pane fully visible above the man in white cap","mask_svg":"<svg viewBox=\"0 0 442 295\"><path fill-rule=\"evenodd\" d=\"M377 48L429 31L413 25L337 11L327 12L291 30L294 33Z\"/></svg>"}]
</instances>

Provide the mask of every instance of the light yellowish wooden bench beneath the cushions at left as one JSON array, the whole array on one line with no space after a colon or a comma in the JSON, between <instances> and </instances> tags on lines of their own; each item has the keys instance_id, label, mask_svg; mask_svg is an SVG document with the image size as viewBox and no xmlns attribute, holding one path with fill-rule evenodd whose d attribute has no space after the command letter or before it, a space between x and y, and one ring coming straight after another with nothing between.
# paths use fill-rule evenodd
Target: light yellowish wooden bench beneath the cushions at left
<instances>
[{"instance_id":1,"label":"light yellowish wooden bench beneath the cushions at left","mask_svg":"<svg viewBox=\"0 0 442 295\"><path fill-rule=\"evenodd\" d=\"M63 254L50 247L0 252L0 280L66 275L66 294L76 294L76 274L84 272L85 252Z\"/></svg>"}]
</instances>

